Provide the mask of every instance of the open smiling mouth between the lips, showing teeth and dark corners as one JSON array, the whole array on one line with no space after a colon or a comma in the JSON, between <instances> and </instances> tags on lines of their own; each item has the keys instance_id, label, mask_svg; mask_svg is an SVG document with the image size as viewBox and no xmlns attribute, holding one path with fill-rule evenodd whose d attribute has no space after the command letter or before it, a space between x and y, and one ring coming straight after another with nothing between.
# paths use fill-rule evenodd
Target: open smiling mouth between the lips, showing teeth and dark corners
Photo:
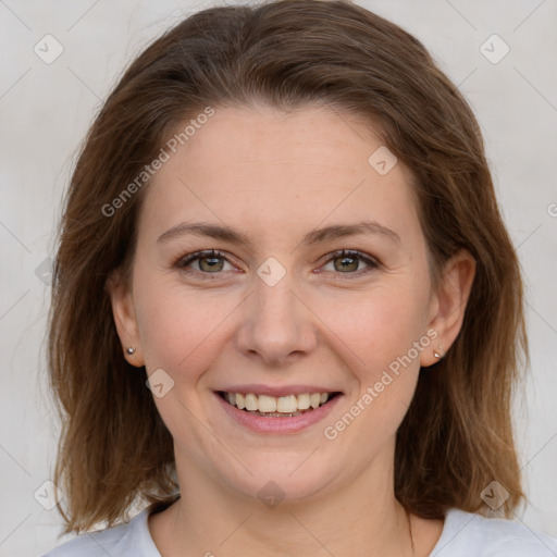
<instances>
[{"instance_id":1,"label":"open smiling mouth between the lips, showing teeth and dark corners","mask_svg":"<svg viewBox=\"0 0 557 557\"><path fill-rule=\"evenodd\" d=\"M341 392L299 393L284 396L257 395L255 393L230 393L218 391L216 394L230 406L261 418L295 418L311 413L327 406Z\"/></svg>"}]
</instances>

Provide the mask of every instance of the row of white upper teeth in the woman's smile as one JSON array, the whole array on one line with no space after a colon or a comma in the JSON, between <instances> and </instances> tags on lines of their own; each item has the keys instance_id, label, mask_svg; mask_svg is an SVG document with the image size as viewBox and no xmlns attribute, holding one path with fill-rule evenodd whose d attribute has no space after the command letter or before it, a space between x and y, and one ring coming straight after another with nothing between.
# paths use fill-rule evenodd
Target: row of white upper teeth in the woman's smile
<instances>
[{"instance_id":1,"label":"row of white upper teeth in the woman's smile","mask_svg":"<svg viewBox=\"0 0 557 557\"><path fill-rule=\"evenodd\" d=\"M259 411L269 414L298 414L299 410L309 410L324 405L331 393L302 393L300 395L268 396L253 393L224 393L224 399L240 410Z\"/></svg>"}]
</instances>

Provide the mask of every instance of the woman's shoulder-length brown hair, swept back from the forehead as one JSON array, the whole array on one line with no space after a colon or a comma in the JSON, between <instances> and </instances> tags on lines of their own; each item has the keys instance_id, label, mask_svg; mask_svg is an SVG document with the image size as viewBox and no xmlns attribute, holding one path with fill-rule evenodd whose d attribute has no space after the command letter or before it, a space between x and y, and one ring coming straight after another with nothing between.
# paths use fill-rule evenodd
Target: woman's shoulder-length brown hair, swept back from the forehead
<instances>
[{"instance_id":1,"label":"woman's shoulder-length brown hair, swept back from the forehead","mask_svg":"<svg viewBox=\"0 0 557 557\"><path fill-rule=\"evenodd\" d=\"M397 433L395 495L411 512L484 512L493 480L510 516L524 497L510 403L528 356L522 283L479 126L411 35L348 1L282 0L196 13L128 67L95 120L65 199L53 272L49 370L62 434L54 483L64 533L175 498L172 437L145 373L126 362L106 283L128 268L143 189L103 208L203 107L321 103L361 117L411 171L432 276L460 249L476 261L462 329L420 373ZM144 187L145 189L145 187ZM184 487L184 486L183 486Z\"/></svg>"}]
</instances>

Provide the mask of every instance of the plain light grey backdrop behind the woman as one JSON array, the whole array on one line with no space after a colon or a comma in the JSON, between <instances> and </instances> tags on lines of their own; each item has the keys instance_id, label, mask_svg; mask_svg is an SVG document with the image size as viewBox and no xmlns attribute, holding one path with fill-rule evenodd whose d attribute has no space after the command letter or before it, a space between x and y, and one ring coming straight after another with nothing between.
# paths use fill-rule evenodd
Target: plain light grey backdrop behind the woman
<instances>
[{"instance_id":1,"label":"plain light grey backdrop behind the woman","mask_svg":"<svg viewBox=\"0 0 557 557\"><path fill-rule=\"evenodd\" d=\"M532 359L516 423L529 505L516 520L557 535L557 1L358 3L430 48L485 135L528 287ZM60 515L40 497L51 488L59 432L44 337L49 258L76 151L131 59L209 5L0 0L0 557L39 556L65 540L57 540Z\"/></svg>"}]
</instances>

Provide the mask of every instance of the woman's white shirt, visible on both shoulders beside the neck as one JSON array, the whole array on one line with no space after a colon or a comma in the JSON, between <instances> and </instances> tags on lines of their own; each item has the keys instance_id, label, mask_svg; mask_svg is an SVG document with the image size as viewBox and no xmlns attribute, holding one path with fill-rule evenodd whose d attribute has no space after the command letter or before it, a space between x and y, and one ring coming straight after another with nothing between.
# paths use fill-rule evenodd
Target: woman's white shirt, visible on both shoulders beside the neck
<instances>
[{"instance_id":1,"label":"woman's white shirt, visible on both shoulders beside the neck","mask_svg":"<svg viewBox=\"0 0 557 557\"><path fill-rule=\"evenodd\" d=\"M42 557L161 557L148 512L146 508L125 524L82 534ZM430 557L557 557L557 537L523 523L449 509Z\"/></svg>"}]
</instances>

